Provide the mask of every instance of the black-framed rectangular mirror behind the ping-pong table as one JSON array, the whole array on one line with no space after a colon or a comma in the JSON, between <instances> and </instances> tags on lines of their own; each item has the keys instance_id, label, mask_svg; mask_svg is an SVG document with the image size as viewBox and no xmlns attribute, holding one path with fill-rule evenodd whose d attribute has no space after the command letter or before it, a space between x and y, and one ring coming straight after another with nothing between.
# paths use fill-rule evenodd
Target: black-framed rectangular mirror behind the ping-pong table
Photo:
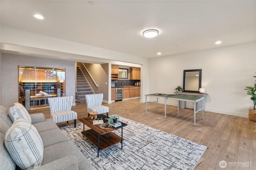
<instances>
[{"instance_id":1,"label":"black-framed rectangular mirror behind the ping-pong table","mask_svg":"<svg viewBox=\"0 0 256 170\"><path fill-rule=\"evenodd\" d=\"M184 70L183 89L184 92L199 93L202 81L202 69Z\"/></svg>"}]
</instances>

